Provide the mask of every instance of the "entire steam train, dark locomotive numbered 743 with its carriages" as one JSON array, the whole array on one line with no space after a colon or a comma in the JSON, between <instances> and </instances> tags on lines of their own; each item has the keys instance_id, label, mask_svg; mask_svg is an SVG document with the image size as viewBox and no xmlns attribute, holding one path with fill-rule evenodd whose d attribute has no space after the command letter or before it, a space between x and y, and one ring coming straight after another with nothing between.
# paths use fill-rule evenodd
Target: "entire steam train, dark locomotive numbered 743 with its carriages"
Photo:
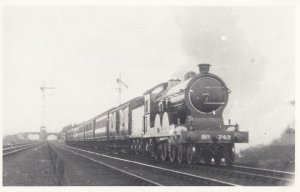
<instances>
[{"instance_id":1,"label":"entire steam train, dark locomotive numbered 743 with its carriages","mask_svg":"<svg viewBox=\"0 0 300 192\"><path fill-rule=\"evenodd\" d=\"M132 154L147 154L172 163L231 166L234 143L248 142L248 132L237 124L224 124L222 113L230 90L209 64L199 74L189 72L184 81L170 80L70 128L65 141Z\"/></svg>"}]
</instances>

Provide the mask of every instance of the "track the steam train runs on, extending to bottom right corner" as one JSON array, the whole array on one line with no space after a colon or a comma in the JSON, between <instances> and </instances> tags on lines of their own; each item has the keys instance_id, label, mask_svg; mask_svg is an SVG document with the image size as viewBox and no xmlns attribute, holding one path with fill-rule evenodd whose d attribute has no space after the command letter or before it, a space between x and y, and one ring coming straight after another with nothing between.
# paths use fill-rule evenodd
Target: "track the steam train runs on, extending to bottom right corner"
<instances>
[{"instance_id":1,"label":"track the steam train runs on, extending to bottom right corner","mask_svg":"<svg viewBox=\"0 0 300 192\"><path fill-rule=\"evenodd\" d=\"M83 150L81 148L81 150ZM89 152L99 153L99 151L89 149ZM102 154L103 155L103 154ZM138 161L138 163L147 163L150 165L157 165L166 169L180 170L187 174L198 175L202 177L207 177L210 179L216 179L219 181L224 181L234 185L243 185L243 186L285 186L291 185L294 183L295 174L292 172L284 172L279 170L267 170L254 167L245 167L245 166L233 166L226 167L224 165L215 166L215 165L205 165L200 163L197 165L188 166L183 165L174 165L165 161L156 161L149 158L142 158L130 155L112 155L114 157L123 157L131 161ZM175 168L174 168L175 166Z\"/></svg>"}]
</instances>

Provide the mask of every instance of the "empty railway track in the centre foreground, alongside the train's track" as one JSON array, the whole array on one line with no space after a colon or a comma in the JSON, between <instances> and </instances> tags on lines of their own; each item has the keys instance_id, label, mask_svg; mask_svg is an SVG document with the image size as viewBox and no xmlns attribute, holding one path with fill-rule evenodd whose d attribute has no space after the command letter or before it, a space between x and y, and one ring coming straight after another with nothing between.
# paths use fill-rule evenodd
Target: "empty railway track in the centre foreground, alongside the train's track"
<instances>
[{"instance_id":1,"label":"empty railway track in the centre foreground, alongside the train's track","mask_svg":"<svg viewBox=\"0 0 300 192\"><path fill-rule=\"evenodd\" d=\"M154 166L151 164L100 154L98 152L66 146L63 144L54 144L54 146L60 148L61 150L71 152L80 157L110 167L121 172L123 175L132 177L135 180L140 180L142 185L238 186L238 184L235 183L208 178L197 174L191 174L188 172L175 170L174 168L171 169L161 166Z\"/></svg>"}]
</instances>

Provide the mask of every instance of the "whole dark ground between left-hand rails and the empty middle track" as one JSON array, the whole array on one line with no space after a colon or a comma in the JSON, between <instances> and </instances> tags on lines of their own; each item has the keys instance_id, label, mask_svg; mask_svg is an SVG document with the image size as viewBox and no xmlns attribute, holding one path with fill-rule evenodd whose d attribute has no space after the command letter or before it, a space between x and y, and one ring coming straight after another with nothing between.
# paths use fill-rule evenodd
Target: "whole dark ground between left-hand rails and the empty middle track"
<instances>
[{"instance_id":1,"label":"whole dark ground between left-hand rails and the empty middle track","mask_svg":"<svg viewBox=\"0 0 300 192\"><path fill-rule=\"evenodd\" d=\"M52 154L46 143L3 157L3 186L129 186L118 172L57 148ZM63 162L58 176L57 159ZM54 161L54 162L53 162Z\"/></svg>"}]
</instances>

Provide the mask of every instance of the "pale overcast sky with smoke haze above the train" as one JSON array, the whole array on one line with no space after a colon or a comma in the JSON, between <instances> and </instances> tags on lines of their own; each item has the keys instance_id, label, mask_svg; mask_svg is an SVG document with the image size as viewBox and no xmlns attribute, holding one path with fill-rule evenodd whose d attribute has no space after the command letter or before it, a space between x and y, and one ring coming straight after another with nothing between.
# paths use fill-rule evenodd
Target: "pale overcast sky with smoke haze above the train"
<instances>
[{"instance_id":1,"label":"pale overcast sky with smoke haze above the train","mask_svg":"<svg viewBox=\"0 0 300 192\"><path fill-rule=\"evenodd\" d=\"M232 90L224 118L268 143L293 122L291 7L4 7L4 129L60 131L142 95L197 64Z\"/></svg>"}]
</instances>

